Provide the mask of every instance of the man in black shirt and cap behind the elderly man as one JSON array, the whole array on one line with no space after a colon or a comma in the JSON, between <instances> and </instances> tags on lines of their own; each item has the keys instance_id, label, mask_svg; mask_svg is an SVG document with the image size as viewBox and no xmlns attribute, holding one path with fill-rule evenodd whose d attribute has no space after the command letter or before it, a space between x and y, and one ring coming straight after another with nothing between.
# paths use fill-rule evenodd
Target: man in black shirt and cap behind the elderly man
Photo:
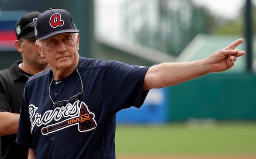
<instances>
[{"instance_id":1,"label":"man in black shirt and cap behind the elderly man","mask_svg":"<svg viewBox=\"0 0 256 159\"><path fill-rule=\"evenodd\" d=\"M48 68L35 48L35 20L38 11L22 15L15 25L15 47L22 60L0 71L0 159L26 159L28 149L15 142L20 118L20 102L29 77Z\"/></svg>"}]
</instances>

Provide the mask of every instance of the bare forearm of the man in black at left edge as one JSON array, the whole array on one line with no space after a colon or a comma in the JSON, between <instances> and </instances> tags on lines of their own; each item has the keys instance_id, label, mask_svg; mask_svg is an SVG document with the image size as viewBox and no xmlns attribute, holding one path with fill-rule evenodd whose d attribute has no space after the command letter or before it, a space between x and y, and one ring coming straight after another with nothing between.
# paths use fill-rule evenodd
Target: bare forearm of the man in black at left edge
<instances>
[{"instance_id":1,"label":"bare forearm of the man in black at left edge","mask_svg":"<svg viewBox=\"0 0 256 159\"><path fill-rule=\"evenodd\" d=\"M0 111L0 136L17 133L20 114Z\"/></svg>"}]
</instances>

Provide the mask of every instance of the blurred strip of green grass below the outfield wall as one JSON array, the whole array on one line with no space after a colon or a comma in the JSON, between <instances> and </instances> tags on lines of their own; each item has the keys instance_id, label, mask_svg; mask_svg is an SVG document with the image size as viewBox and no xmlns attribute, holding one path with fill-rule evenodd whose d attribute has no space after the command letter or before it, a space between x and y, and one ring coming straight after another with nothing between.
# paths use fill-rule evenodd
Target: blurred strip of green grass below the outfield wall
<instances>
[{"instance_id":1,"label":"blurred strip of green grass below the outfield wall","mask_svg":"<svg viewBox=\"0 0 256 159\"><path fill-rule=\"evenodd\" d=\"M117 154L256 154L256 123L117 125Z\"/></svg>"}]
</instances>

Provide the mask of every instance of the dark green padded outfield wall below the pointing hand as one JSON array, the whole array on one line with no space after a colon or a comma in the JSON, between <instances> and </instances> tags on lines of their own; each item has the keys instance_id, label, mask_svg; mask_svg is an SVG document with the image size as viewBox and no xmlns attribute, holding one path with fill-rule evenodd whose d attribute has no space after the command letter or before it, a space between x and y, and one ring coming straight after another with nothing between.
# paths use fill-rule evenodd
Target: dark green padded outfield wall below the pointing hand
<instances>
[{"instance_id":1,"label":"dark green padded outfield wall below the pointing hand","mask_svg":"<svg viewBox=\"0 0 256 159\"><path fill-rule=\"evenodd\" d=\"M169 120L256 120L256 74L214 73L169 87Z\"/></svg>"}]
</instances>

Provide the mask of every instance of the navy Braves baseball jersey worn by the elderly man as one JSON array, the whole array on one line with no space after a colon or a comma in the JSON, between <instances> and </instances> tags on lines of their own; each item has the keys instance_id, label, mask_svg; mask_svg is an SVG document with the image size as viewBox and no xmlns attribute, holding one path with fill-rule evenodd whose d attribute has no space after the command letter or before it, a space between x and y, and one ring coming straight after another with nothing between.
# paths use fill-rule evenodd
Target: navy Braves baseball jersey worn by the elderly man
<instances>
[{"instance_id":1,"label":"navy Braves baseball jersey worn by the elderly man","mask_svg":"<svg viewBox=\"0 0 256 159\"><path fill-rule=\"evenodd\" d=\"M148 67L80 57L61 81L49 69L23 92L16 142L37 159L114 159L116 113L140 108Z\"/></svg>"}]
</instances>

